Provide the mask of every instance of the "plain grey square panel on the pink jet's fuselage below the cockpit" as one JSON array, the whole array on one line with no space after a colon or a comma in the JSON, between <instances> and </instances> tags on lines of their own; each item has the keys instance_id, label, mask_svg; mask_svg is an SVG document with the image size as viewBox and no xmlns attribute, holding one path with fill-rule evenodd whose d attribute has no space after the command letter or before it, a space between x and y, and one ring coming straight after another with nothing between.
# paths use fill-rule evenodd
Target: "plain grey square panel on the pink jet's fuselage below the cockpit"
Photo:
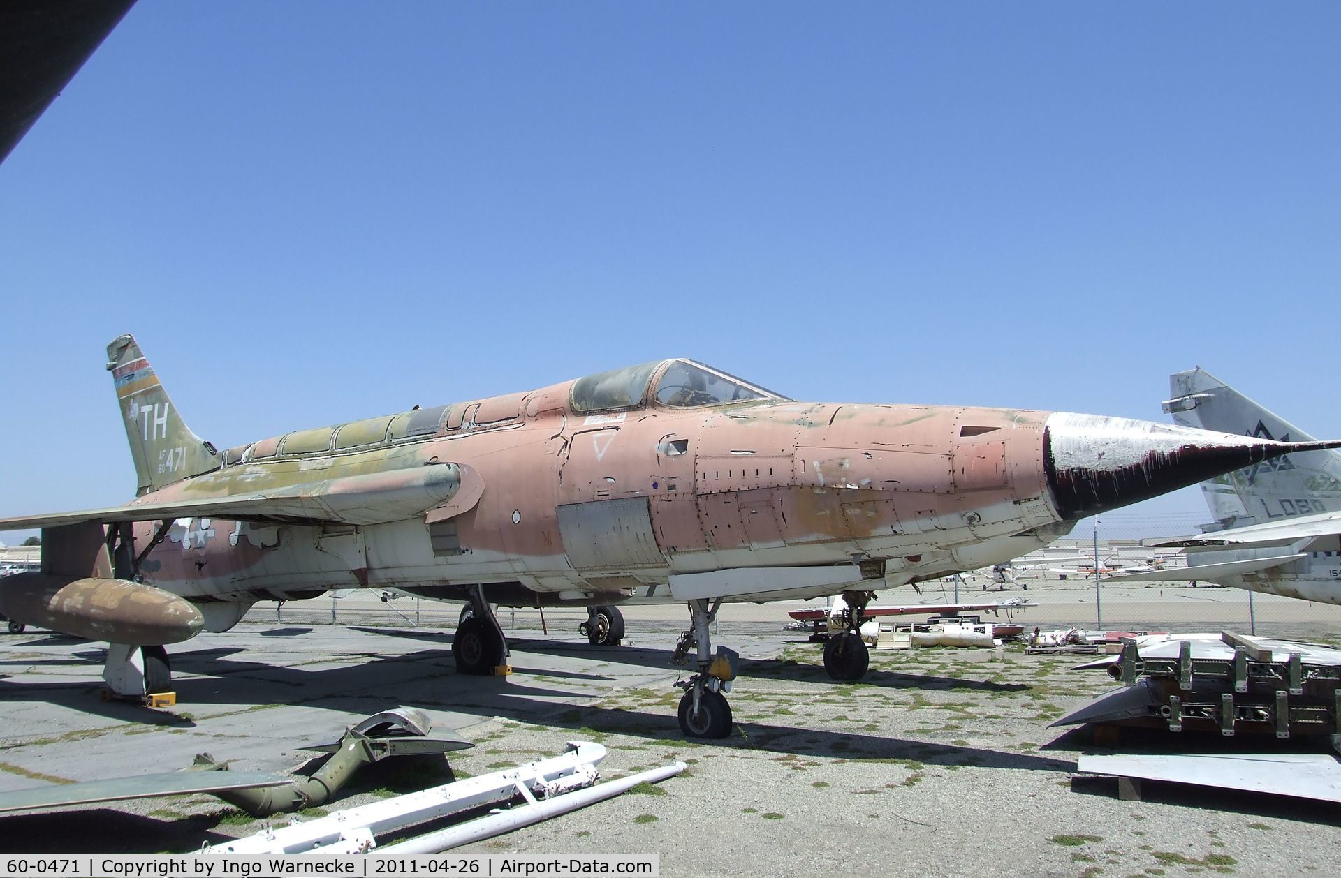
<instances>
[{"instance_id":1,"label":"plain grey square panel on the pink jet's fuselage below the cockpit","mask_svg":"<svg viewBox=\"0 0 1341 878\"><path fill-rule=\"evenodd\" d=\"M646 497L570 503L557 509L569 560L578 570L661 567Z\"/></svg>"}]
</instances>

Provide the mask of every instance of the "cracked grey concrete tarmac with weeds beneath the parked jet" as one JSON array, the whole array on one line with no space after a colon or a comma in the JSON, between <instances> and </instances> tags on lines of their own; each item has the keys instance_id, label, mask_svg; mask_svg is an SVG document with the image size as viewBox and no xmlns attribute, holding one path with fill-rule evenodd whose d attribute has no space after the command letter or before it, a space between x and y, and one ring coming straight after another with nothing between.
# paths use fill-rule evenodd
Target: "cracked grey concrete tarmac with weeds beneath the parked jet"
<instances>
[{"instance_id":1,"label":"cracked grey concrete tarmac with weeds beneath the parked jet","mask_svg":"<svg viewBox=\"0 0 1341 878\"><path fill-rule=\"evenodd\" d=\"M1341 873L1334 806L1159 784L1143 802L1120 802L1114 781L1078 777L1081 752L1112 751L1047 724L1112 688L1101 673L1069 670L1085 657L874 651L865 681L834 682L818 645L782 631L780 610L754 607L774 618L724 615L715 638L744 658L734 732L691 743L676 723L669 665L683 611L629 611L632 643L620 647L586 643L571 611L548 613L548 634L504 611L514 673L481 678L455 673L451 627L430 625L455 622L455 609L421 613L413 627L404 601L390 610L369 599L359 625L316 623L329 610L307 605L310 617L286 606L266 618L271 606L170 647L178 704L165 710L99 697L103 645L31 630L0 638L0 790L170 771L201 751L235 771L287 771L307 759L300 747L404 704L476 743L451 755L460 775L579 739L609 748L606 777L691 764L650 794L464 849L476 853L656 853L664 875ZM1019 621L1031 626L1027 614L1042 611ZM1130 733L1121 744L1325 747L1191 733ZM388 761L365 769L341 804L447 779L441 765ZM0 815L0 850L181 853L261 826L208 796L146 799Z\"/></svg>"}]
</instances>

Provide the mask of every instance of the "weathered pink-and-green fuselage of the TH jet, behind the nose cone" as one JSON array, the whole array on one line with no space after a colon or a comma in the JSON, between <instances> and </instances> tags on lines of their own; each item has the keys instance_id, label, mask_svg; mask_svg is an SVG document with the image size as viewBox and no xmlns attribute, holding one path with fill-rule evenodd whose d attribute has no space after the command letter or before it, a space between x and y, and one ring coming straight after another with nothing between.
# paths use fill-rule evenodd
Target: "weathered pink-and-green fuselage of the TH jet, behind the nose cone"
<instances>
[{"instance_id":1,"label":"weathered pink-and-green fuselage of the TH jet, behind the nose cone","mask_svg":"<svg viewBox=\"0 0 1341 878\"><path fill-rule=\"evenodd\" d=\"M919 563L908 555L957 568L957 544L1019 538L1058 520L1046 500L1042 413L778 401L591 418L563 407L565 390L528 394L535 414L502 428L451 432L444 420L434 436L409 444L251 460L139 499L264 493L314 471L349 479L451 460L484 484L477 503L449 520L460 554L434 554L422 517L369 527L193 519L149 555L146 580L197 599L475 582L609 597L670 572L861 556L896 560L907 582ZM959 437L968 424L992 430ZM677 441L684 450L670 453ZM570 558L559 516L628 500L642 501L632 508L654 551L616 554L607 566L591 566L591 552ZM153 527L137 525L137 544L148 544ZM1003 551L1018 554L1018 542ZM611 578L621 582L603 582Z\"/></svg>"}]
</instances>

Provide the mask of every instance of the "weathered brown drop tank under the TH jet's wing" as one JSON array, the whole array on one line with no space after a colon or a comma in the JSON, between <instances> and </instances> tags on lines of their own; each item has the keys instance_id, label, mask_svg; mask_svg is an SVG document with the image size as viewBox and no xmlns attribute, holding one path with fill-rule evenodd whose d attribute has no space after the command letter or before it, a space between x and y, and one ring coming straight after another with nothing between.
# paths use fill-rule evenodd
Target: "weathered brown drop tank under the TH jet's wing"
<instances>
[{"instance_id":1,"label":"weathered brown drop tank under the TH jet's wing","mask_svg":"<svg viewBox=\"0 0 1341 878\"><path fill-rule=\"evenodd\" d=\"M76 637L145 646L180 643L204 627L189 601L125 579L17 574L0 588L0 613Z\"/></svg>"}]
</instances>

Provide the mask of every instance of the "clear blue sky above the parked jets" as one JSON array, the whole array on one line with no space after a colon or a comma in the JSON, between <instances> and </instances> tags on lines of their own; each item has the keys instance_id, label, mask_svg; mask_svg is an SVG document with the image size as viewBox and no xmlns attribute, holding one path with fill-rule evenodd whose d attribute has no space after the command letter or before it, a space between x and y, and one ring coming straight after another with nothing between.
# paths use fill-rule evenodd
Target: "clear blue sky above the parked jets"
<instances>
[{"instance_id":1,"label":"clear blue sky above the parked jets","mask_svg":"<svg viewBox=\"0 0 1341 878\"><path fill-rule=\"evenodd\" d=\"M662 355L1151 420L1200 365L1341 437L1338 25L141 0L0 165L0 515L133 492L126 331L219 446Z\"/></svg>"}]
</instances>

